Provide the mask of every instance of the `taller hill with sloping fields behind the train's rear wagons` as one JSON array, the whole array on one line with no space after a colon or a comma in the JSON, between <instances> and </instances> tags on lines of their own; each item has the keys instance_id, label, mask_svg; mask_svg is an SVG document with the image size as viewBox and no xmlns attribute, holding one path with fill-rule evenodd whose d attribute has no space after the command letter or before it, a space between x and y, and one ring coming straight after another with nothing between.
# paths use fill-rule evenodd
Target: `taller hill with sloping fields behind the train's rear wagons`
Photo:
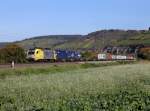
<instances>
[{"instance_id":1,"label":"taller hill with sloping fields behind the train's rear wagons","mask_svg":"<svg viewBox=\"0 0 150 111\"><path fill-rule=\"evenodd\" d=\"M118 45L118 41L123 43L124 40L139 36L141 33L136 30L101 30L85 35L81 39L59 44L56 48L102 48L106 45Z\"/></svg>"}]
</instances>

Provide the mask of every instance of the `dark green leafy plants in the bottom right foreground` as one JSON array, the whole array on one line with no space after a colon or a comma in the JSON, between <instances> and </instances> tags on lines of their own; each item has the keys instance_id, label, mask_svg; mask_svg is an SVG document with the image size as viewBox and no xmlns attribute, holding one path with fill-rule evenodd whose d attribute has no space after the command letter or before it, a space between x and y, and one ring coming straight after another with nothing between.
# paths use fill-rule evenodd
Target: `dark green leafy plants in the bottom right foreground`
<instances>
[{"instance_id":1,"label":"dark green leafy plants in the bottom right foreground","mask_svg":"<svg viewBox=\"0 0 150 111\"><path fill-rule=\"evenodd\" d=\"M150 95L144 92L120 91L116 94L82 95L61 98L62 111L139 111L150 110Z\"/></svg>"}]
</instances>

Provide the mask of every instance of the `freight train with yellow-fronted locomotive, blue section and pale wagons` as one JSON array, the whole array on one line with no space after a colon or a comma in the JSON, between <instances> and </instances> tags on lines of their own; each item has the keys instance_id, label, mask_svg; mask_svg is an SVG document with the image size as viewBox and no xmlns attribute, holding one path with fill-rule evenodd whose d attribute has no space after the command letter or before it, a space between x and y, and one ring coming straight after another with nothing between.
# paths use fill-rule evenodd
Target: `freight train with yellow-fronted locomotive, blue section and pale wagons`
<instances>
[{"instance_id":1,"label":"freight train with yellow-fronted locomotive, blue section and pale wagons","mask_svg":"<svg viewBox=\"0 0 150 111\"><path fill-rule=\"evenodd\" d=\"M113 61L113 60L135 60L135 54L113 54L101 51L76 51L76 50L52 50L48 48L34 48L27 51L29 61L49 62L73 62L73 61Z\"/></svg>"}]
</instances>

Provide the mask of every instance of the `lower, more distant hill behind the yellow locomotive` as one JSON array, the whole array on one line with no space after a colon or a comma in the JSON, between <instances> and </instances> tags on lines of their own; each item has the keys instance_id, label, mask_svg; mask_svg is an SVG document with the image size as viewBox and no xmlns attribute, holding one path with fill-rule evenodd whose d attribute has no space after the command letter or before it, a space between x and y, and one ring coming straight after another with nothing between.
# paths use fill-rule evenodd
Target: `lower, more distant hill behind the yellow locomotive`
<instances>
[{"instance_id":1,"label":"lower, more distant hill behind the yellow locomotive","mask_svg":"<svg viewBox=\"0 0 150 111\"><path fill-rule=\"evenodd\" d=\"M81 35L49 35L40 36L23 41L15 42L16 44L28 49L33 47L41 48L54 48L57 45L64 44L65 42L73 41L82 37Z\"/></svg>"}]
</instances>

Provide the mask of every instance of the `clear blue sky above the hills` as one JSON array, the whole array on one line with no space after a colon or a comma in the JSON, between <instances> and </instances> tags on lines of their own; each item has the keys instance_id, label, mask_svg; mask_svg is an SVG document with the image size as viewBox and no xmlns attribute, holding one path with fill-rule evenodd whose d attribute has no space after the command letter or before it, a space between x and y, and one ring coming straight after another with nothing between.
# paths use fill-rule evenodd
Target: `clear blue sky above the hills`
<instances>
[{"instance_id":1,"label":"clear blue sky above the hills","mask_svg":"<svg viewBox=\"0 0 150 111\"><path fill-rule=\"evenodd\" d=\"M0 0L0 42L102 29L148 29L150 0Z\"/></svg>"}]
</instances>

